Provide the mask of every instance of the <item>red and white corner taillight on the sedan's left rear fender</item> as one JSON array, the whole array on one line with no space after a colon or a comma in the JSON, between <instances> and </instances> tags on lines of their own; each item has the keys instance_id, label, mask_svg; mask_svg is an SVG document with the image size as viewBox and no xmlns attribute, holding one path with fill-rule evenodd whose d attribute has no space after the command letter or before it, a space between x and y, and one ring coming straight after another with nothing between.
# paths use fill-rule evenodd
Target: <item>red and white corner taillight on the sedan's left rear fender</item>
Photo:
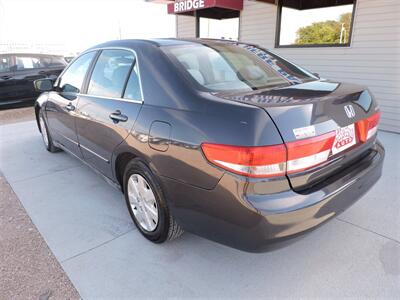
<instances>
[{"instance_id":1,"label":"red and white corner taillight on the sedan's left rear fender","mask_svg":"<svg viewBox=\"0 0 400 300\"><path fill-rule=\"evenodd\" d=\"M283 176L286 171L285 145L242 147L219 144L201 145L213 164L248 177Z\"/></svg>"}]
</instances>

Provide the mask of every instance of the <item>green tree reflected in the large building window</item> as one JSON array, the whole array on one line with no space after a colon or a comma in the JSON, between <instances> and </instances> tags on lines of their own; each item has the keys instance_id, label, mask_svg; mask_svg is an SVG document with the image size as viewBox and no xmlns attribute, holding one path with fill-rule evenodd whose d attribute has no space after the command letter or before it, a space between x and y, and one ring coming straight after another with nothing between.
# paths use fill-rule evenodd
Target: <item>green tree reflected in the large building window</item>
<instances>
[{"instance_id":1,"label":"green tree reflected in the large building window","mask_svg":"<svg viewBox=\"0 0 400 300\"><path fill-rule=\"evenodd\" d=\"M315 22L311 25L301 27L297 30L295 43L298 45L307 44L339 44L342 24L344 24L345 34L343 43L348 43L350 23L352 13L340 15L339 20L328 20L324 22Z\"/></svg>"}]
</instances>

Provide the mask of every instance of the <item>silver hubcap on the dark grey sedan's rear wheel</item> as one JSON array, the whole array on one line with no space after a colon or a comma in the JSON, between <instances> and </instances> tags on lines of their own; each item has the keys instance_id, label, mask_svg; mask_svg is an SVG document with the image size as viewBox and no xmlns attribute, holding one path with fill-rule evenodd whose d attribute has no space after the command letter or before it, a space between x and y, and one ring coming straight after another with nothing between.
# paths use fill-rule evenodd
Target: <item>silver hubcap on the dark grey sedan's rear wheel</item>
<instances>
[{"instance_id":1,"label":"silver hubcap on the dark grey sedan's rear wheel","mask_svg":"<svg viewBox=\"0 0 400 300\"><path fill-rule=\"evenodd\" d=\"M128 198L136 221L146 231L154 231L158 224L158 206L149 183L139 174L128 180Z\"/></svg>"}]
</instances>

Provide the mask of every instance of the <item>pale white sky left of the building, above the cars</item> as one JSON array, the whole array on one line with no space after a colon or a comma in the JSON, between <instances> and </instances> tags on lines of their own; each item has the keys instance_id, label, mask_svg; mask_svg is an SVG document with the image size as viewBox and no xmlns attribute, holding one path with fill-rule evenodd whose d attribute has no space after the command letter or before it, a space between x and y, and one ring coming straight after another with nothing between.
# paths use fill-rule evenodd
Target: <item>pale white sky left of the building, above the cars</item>
<instances>
[{"instance_id":1,"label":"pale white sky left of the building, above the cars","mask_svg":"<svg viewBox=\"0 0 400 300\"><path fill-rule=\"evenodd\" d=\"M0 44L51 44L68 55L120 37L175 37L175 16L143 0L0 0Z\"/></svg>"}]
</instances>

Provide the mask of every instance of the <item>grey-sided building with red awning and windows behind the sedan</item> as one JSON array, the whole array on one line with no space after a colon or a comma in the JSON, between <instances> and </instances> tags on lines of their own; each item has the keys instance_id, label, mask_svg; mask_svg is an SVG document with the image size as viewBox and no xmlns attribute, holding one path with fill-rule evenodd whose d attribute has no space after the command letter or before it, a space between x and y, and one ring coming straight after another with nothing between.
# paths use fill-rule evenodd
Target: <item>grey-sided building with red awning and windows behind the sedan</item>
<instances>
[{"instance_id":1,"label":"grey-sided building with red awning and windows behind the sedan","mask_svg":"<svg viewBox=\"0 0 400 300\"><path fill-rule=\"evenodd\" d=\"M176 14L178 38L204 37L201 32L204 27L201 25L202 17L218 20L237 18L239 41L268 48L318 73L323 78L368 86L380 104L382 111L380 128L400 132L400 1L175 0L163 2L169 2L168 13ZM180 2L186 3L179 4ZM191 3L188 4L188 2ZM196 8L193 7L195 5ZM325 14L328 20L331 19L328 8L331 7L332 11L340 11L346 5L351 9L351 24L347 30L344 25L341 25L340 41L336 44L282 45L282 40L290 35L284 26L293 27L296 22L301 23L301 11L304 11L303 15L309 18L315 17L313 13L314 15ZM307 15L307 11L311 13ZM285 16L286 12L290 12L291 16L289 14ZM292 20L285 20L285 18L292 18ZM210 23L208 23L208 31L209 27ZM295 44L293 40L291 42Z\"/></svg>"}]
</instances>

